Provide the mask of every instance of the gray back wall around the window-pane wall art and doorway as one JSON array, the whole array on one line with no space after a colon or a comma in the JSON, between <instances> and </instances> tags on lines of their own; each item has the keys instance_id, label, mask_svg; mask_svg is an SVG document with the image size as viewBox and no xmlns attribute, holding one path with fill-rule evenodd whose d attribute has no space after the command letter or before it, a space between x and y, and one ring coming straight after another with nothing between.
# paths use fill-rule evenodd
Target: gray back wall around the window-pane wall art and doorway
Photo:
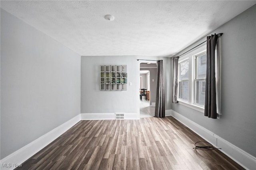
<instances>
[{"instance_id":1,"label":"gray back wall around the window-pane wall art and doorway","mask_svg":"<svg viewBox=\"0 0 256 170\"><path fill-rule=\"evenodd\" d=\"M166 96L170 96L170 58L144 56L82 56L81 113L140 113L140 61L164 60ZM100 65L127 65L127 90L100 90ZM132 86L129 83L132 82ZM155 80L156 82L156 80ZM166 100L166 110L171 101Z\"/></svg>"}]
</instances>

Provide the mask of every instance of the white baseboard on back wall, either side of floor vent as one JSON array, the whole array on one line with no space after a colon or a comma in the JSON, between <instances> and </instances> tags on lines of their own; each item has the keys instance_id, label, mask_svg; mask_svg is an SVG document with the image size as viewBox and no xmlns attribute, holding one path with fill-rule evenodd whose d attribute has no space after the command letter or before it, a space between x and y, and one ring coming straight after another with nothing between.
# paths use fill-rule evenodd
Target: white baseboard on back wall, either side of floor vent
<instances>
[{"instance_id":1,"label":"white baseboard on back wall, either side of floor vent","mask_svg":"<svg viewBox=\"0 0 256 170\"><path fill-rule=\"evenodd\" d=\"M118 114L121 114L118 113ZM138 119L137 113L123 113L124 119ZM114 120L115 113L81 113L81 120Z\"/></svg>"}]
</instances>

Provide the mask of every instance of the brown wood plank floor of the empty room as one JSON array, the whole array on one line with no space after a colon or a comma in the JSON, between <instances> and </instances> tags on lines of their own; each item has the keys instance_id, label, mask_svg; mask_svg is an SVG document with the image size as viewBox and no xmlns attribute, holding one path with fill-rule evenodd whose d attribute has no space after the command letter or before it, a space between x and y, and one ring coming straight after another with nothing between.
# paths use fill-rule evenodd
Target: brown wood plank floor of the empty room
<instances>
[{"instance_id":1,"label":"brown wood plank floor of the empty room","mask_svg":"<svg viewBox=\"0 0 256 170\"><path fill-rule=\"evenodd\" d=\"M17 170L242 170L171 116L81 120Z\"/></svg>"}]
</instances>

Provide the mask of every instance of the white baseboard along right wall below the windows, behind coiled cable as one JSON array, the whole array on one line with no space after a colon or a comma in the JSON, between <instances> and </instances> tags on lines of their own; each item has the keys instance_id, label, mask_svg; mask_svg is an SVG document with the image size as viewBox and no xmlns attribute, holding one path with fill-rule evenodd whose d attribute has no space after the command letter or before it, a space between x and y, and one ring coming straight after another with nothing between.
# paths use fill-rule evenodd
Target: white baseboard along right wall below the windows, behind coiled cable
<instances>
[{"instance_id":1,"label":"white baseboard along right wall below the windows, behind coiled cable","mask_svg":"<svg viewBox=\"0 0 256 170\"><path fill-rule=\"evenodd\" d=\"M186 125L188 128L193 130L196 134L210 142L216 148L221 148L220 151L230 157L232 160L240 164L246 170L255 170L256 158L251 154L245 152L244 150L238 148L232 143L224 140L220 136L214 134L213 132L207 130L206 128L196 124L192 120L182 116L181 114L171 110L171 115L180 121L182 124Z\"/></svg>"}]
</instances>

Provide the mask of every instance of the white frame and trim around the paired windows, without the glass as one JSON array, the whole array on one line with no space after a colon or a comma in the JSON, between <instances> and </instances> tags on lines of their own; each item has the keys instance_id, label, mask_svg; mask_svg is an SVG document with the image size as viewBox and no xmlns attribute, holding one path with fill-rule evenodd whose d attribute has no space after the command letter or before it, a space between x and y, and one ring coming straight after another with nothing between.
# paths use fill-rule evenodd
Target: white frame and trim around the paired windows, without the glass
<instances>
[{"instance_id":1,"label":"white frame and trim around the paired windows, without the glass","mask_svg":"<svg viewBox=\"0 0 256 170\"><path fill-rule=\"evenodd\" d=\"M221 94L221 54L220 54L220 39L218 38L217 41L217 47L216 47L216 72L215 72L215 76L216 76L216 105L217 105L217 118L220 118L221 112L220 112L220 94ZM195 75L196 75L196 60L195 57L198 56L199 54L202 54L203 52L206 52L206 44L202 45L200 47L198 47L197 49L195 49L194 51L185 54L184 56L179 58L179 62L183 62L185 60L189 61L189 80L188 80L188 101L184 101L180 98L178 98L178 104L187 106L189 108L192 108L194 110L197 110L199 112L204 113L204 105L202 104L197 104L195 103L196 101L196 86L195 86ZM179 66L179 64L178 64ZM179 68L178 68L179 69ZM178 72L178 80L179 79L179 75L180 72ZM179 82L179 81L178 81ZM179 85L178 85L178 90L179 90ZM178 92L179 94L179 92Z\"/></svg>"}]
</instances>

